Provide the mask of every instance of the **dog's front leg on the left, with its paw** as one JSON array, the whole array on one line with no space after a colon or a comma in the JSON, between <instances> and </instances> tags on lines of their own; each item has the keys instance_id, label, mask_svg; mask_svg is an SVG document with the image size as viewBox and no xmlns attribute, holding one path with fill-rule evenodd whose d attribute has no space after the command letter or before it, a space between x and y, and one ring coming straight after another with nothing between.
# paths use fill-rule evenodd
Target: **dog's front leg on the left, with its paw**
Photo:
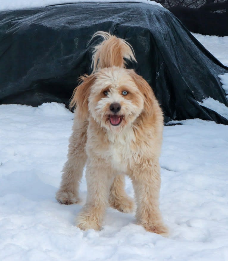
<instances>
[{"instance_id":1,"label":"dog's front leg on the left, with its paw","mask_svg":"<svg viewBox=\"0 0 228 261\"><path fill-rule=\"evenodd\" d=\"M76 218L76 226L80 229L100 230L106 209L108 207L110 186L113 175L101 159L88 159L86 167L87 199Z\"/></svg>"}]
</instances>

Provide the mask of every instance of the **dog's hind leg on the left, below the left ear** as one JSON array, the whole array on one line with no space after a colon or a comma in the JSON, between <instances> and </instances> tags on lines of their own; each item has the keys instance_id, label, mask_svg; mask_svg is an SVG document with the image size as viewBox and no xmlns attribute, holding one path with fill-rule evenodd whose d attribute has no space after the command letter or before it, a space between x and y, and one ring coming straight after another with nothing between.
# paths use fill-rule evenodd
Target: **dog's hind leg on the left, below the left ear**
<instances>
[{"instance_id":1,"label":"dog's hind leg on the left, below the left ear","mask_svg":"<svg viewBox=\"0 0 228 261\"><path fill-rule=\"evenodd\" d=\"M87 160L85 153L87 125L87 121L79 120L75 115L73 133L69 139L68 160L63 167L60 189L56 193L56 199L61 204L79 202L79 182Z\"/></svg>"}]
</instances>

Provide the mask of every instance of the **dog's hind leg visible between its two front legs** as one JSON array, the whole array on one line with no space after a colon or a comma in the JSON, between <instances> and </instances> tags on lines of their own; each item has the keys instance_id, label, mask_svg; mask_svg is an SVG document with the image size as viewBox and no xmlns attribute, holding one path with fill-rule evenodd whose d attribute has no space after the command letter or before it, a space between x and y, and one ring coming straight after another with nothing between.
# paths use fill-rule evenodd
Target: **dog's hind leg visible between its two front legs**
<instances>
[{"instance_id":1,"label":"dog's hind leg visible between its two front legs","mask_svg":"<svg viewBox=\"0 0 228 261\"><path fill-rule=\"evenodd\" d=\"M117 175L110 188L109 204L110 207L120 212L129 213L134 210L135 204L124 190L125 176Z\"/></svg>"}]
</instances>

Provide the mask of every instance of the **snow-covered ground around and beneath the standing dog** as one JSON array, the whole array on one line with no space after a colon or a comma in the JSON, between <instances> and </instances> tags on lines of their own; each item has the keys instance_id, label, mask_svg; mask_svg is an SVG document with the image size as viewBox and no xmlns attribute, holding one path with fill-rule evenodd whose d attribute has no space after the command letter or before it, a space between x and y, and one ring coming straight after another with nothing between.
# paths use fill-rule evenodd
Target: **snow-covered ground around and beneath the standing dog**
<instances>
[{"instance_id":1,"label":"snow-covered ground around and beneath the standing dog","mask_svg":"<svg viewBox=\"0 0 228 261\"><path fill-rule=\"evenodd\" d=\"M228 37L195 36L228 65ZM228 126L194 119L164 128L164 238L111 208L99 232L74 226L85 179L82 204L55 200L72 119L63 104L0 105L0 260L228 260ZM133 196L129 179L126 190Z\"/></svg>"}]
</instances>

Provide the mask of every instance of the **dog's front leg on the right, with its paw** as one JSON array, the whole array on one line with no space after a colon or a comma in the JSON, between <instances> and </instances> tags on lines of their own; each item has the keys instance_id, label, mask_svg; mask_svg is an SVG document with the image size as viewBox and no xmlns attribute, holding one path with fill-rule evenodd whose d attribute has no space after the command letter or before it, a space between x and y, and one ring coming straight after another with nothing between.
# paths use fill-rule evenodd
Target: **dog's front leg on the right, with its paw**
<instances>
[{"instance_id":1,"label":"dog's front leg on the right, with its paw","mask_svg":"<svg viewBox=\"0 0 228 261\"><path fill-rule=\"evenodd\" d=\"M136 219L147 231L168 235L159 210L160 165L158 159L145 160L132 171L137 201Z\"/></svg>"}]
</instances>

